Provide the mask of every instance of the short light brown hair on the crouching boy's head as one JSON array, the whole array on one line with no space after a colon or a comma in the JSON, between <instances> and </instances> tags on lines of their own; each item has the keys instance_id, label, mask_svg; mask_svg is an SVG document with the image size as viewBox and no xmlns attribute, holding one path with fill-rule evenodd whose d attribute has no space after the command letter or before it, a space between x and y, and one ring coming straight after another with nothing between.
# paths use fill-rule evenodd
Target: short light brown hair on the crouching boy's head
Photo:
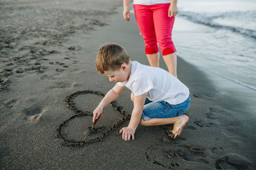
<instances>
[{"instance_id":1,"label":"short light brown hair on the crouching boy's head","mask_svg":"<svg viewBox=\"0 0 256 170\"><path fill-rule=\"evenodd\" d=\"M130 63L125 48L117 44L104 44L99 49L95 65L98 73L104 74L108 70L119 70L123 63Z\"/></svg>"}]
</instances>

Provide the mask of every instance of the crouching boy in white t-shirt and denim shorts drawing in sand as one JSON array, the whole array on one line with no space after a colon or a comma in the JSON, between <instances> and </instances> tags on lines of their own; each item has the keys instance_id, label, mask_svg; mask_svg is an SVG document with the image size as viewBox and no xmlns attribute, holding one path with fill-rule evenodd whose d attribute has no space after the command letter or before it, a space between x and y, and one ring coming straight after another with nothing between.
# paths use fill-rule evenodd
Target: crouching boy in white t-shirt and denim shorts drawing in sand
<instances>
[{"instance_id":1,"label":"crouching boy in white t-shirt and denim shorts drawing in sand","mask_svg":"<svg viewBox=\"0 0 256 170\"><path fill-rule=\"evenodd\" d=\"M190 106L190 94L179 79L161 68L131 62L126 50L116 44L103 45L95 64L99 73L117 83L93 111L93 122L102 116L104 107L115 100L126 86L131 91L134 108L129 125L119 131L123 139L134 139L138 124L173 124L169 135L173 139L182 133L189 121L183 113Z\"/></svg>"}]
</instances>

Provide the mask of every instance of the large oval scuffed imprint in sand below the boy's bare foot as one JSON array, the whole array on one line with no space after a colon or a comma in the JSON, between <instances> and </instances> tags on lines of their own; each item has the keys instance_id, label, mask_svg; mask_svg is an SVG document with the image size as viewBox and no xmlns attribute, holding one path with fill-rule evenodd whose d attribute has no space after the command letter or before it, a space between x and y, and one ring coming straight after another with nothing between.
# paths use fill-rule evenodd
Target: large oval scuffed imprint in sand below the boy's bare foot
<instances>
[{"instance_id":1,"label":"large oval scuffed imprint in sand below the boy's bare foot","mask_svg":"<svg viewBox=\"0 0 256 170\"><path fill-rule=\"evenodd\" d=\"M187 161L195 164L210 162L202 147L190 144L157 144L148 147L145 155L148 161L168 169L186 169L184 165L187 165Z\"/></svg>"}]
</instances>

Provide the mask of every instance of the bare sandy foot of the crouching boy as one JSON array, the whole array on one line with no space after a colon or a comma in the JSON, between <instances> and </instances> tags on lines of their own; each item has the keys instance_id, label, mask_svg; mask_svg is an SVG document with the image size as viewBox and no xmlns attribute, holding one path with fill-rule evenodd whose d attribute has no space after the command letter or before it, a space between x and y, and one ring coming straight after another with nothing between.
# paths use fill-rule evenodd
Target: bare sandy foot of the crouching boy
<instances>
[{"instance_id":1,"label":"bare sandy foot of the crouching boy","mask_svg":"<svg viewBox=\"0 0 256 170\"><path fill-rule=\"evenodd\" d=\"M176 139L177 136L180 136L180 134L182 133L182 129L184 128L184 126L187 124L187 122L189 121L189 117L185 114L180 115L179 116L179 120L177 120L174 124L173 124L173 130L172 133L170 133L170 138Z\"/></svg>"}]
</instances>

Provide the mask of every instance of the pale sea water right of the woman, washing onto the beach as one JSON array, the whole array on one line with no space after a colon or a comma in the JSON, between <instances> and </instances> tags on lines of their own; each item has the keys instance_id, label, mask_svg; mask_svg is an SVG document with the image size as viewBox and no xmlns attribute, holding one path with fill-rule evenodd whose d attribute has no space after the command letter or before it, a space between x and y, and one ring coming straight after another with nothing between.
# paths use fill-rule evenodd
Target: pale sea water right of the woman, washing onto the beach
<instances>
[{"instance_id":1,"label":"pale sea water right of the woman, washing onto the beach","mask_svg":"<svg viewBox=\"0 0 256 170\"><path fill-rule=\"evenodd\" d=\"M195 24L174 26L177 55L256 91L256 1L182 0L178 9L177 23Z\"/></svg>"}]
</instances>

